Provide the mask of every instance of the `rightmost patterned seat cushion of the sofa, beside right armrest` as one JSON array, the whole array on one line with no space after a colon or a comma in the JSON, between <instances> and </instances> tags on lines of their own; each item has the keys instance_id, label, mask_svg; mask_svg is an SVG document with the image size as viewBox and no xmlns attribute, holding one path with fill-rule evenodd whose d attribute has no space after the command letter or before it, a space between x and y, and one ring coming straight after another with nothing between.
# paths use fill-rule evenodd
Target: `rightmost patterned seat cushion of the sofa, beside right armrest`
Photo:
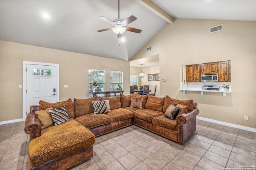
<instances>
[{"instance_id":1,"label":"rightmost patterned seat cushion of the sofa, beside right armrest","mask_svg":"<svg viewBox=\"0 0 256 170\"><path fill-rule=\"evenodd\" d=\"M171 120L164 115L152 117L152 123L176 131L177 120Z\"/></svg>"}]
</instances>

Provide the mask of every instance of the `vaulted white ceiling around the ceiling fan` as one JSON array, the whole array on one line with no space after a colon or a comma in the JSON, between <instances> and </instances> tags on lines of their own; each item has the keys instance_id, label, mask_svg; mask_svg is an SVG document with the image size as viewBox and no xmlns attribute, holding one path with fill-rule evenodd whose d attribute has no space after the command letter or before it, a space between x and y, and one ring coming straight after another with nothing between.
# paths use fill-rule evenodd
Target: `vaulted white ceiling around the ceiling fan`
<instances>
[{"instance_id":1,"label":"vaulted white ceiling around the ceiling fan","mask_svg":"<svg viewBox=\"0 0 256 170\"><path fill-rule=\"evenodd\" d=\"M156 4L153 10L150 7ZM160 10L161 10L160 9ZM118 0L0 0L0 40L129 61L172 18L256 21L256 0L120 0L120 19L135 16L120 41L112 25ZM47 13L49 18L44 18Z\"/></svg>"}]
</instances>

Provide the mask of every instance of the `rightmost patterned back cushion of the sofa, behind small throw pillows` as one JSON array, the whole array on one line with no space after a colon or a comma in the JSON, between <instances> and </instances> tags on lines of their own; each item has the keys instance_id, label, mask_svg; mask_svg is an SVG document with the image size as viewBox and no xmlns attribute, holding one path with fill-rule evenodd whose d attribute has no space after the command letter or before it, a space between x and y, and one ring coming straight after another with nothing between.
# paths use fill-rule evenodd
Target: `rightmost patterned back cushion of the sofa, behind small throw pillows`
<instances>
[{"instance_id":1,"label":"rightmost patterned back cushion of the sofa, behind small throw pillows","mask_svg":"<svg viewBox=\"0 0 256 170\"><path fill-rule=\"evenodd\" d=\"M166 95L164 100L163 112L166 111L170 104L173 104L174 106L177 106L177 104L188 106L188 111L193 109L193 100L176 100Z\"/></svg>"}]
</instances>

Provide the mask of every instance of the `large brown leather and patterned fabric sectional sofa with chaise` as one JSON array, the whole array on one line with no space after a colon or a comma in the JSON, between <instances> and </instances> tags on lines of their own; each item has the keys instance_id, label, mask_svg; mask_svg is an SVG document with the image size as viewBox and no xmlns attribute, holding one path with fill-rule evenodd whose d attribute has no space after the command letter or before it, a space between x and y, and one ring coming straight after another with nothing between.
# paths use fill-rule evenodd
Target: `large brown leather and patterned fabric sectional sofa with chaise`
<instances>
[{"instance_id":1,"label":"large brown leather and patterned fabric sectional sofa with chaise","mask_svg":"<svg viewBox=\"0 0 256 170\"><path fill-rule=\"evenodd\" d=\"M142 98L142 108L130 107L131 98ZM94 114L92 101L109 100L110 112ZM181 104L182 110L171 120L164 116L170 104ZM70 120L58 126L42 129L37 110L65 106ZM186 107L185 107L186 106ZM93 97L71 99L56 104L40 101L31 106L25 122L25 132L30 135L30 169L67 169L93 156L95 137L130 125L184 143L196 131L196 115L199 110L192 100L175 100L166 96L118 95L114 98ZM39 145L40 144L40 145Z\"/></svg>"}]
</instances>

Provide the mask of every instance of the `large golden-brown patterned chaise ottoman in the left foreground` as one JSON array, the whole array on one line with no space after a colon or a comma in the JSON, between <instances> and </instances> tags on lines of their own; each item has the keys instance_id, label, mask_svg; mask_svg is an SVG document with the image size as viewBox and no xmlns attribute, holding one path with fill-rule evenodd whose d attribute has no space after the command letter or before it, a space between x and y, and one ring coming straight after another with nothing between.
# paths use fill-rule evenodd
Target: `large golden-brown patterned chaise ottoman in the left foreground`
<instances>
[{"instance_id":1,"label":"large golden-brown patterned chaise ottoman in the left foreground","mask_svg":"<svg viewBox=\"0 0 256 170\"><path fill-rule=\"evenodd\" d=\"M93 156L94 134L70 119L29 143L30 169L67 169Z\"/></svg>"}]
</instances>

